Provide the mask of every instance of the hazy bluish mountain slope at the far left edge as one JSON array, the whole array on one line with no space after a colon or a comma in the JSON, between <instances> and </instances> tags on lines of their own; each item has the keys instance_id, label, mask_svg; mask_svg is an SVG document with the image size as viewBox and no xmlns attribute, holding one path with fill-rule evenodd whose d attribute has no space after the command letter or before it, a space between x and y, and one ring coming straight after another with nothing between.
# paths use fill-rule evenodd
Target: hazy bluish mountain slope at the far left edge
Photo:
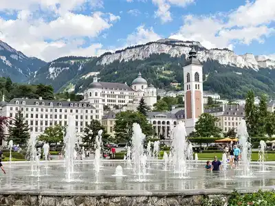
<instances>
[{"instance_id":1,"label":"hazy bluish mountain slope at the far left edge","mask_svg":"<svg viewBox=\"0 0 275 206\"><path fill-rule=\"evenodd\" d=\"M0 76L10 77L14 82L24 82L44 65L46 62L43 60L25 56L0 40Z\"/></svg>"}]
</instances>

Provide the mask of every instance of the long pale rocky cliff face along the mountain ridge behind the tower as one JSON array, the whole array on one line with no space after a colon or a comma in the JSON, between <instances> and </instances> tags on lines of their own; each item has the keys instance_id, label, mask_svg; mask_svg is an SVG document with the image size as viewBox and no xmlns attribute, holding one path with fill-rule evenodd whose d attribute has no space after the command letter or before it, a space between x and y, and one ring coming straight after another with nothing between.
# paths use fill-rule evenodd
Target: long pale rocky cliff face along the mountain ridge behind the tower
<instances>
[{"instance_id":1,"label":"long pale rocky cliff face along the mountain ridge behind the tower","mask_svg":"<svg viewBox=\"0 0 275 206\"><path fill-rule=\"evenodd\" d=\"M228 49L206 49L195 43L199 47L198 59L201 62L207 60L217 60L221 65L230 65L240 68L251 68L258 70L261 67L270 67L275 69L275 61L267 60L264 56L254 56L253 54L236 55ZM188 56L190 52L191 43L181 41L158 41L155 43L148 43L146 45L137 46L129 49L124 49L121 52L114 54L107 54L102 56L99 61L101 65L108 65L115 60L122 62L129 60L144 60L151 56L151 54L170 54L170 56Z\"/></svg>"}]
</instances>

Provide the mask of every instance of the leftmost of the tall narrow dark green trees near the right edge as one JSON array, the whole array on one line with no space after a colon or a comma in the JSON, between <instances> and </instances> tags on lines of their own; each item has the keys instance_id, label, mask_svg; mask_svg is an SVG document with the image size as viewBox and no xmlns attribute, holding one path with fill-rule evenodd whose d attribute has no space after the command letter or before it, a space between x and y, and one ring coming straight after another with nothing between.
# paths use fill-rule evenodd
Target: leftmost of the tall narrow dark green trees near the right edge
<instances>
[{"instance_id":1,"label":"leftmost of the tall narrow dark green trees near the right edge","mask_svg":"<svg viewBox=\"0 0 275 206\"><path fill-rule=\"evenodd\" d=\"M256 137L259 134L258 130L258 117L259 113L254 104L254 92L248 91L245 99L245 122L248 128L248 135L250 137Z\"/></svg>"}]
</instances>

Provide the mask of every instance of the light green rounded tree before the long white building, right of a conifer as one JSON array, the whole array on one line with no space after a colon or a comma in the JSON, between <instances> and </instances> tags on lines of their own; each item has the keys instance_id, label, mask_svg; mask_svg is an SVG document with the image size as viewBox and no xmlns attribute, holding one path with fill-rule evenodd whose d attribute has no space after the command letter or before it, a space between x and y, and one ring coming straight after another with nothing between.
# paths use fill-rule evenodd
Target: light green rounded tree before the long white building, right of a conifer
<instances>
[{"instance_id":1,"label":"light green rounded tree before the long white building, right of a conifer","mask_svg":"<svg viewBox=\"0 0 275 206\"><path fill-rule=\"evenodd\" d=\"M45 141L49 144L57 144L60 141L63 141L65 135L65 126L54 125L45 129L45 132L42 135L39 135L39 141Z\"/></svg>"}]
</instances>

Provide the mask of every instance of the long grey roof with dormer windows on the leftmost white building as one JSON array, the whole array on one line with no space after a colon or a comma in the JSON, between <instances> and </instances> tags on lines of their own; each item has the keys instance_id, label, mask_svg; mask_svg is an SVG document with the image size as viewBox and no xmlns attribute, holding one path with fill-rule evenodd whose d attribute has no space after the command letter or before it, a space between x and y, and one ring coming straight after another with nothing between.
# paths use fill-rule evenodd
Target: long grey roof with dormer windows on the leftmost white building
<instances>
[{"instance_id":1,"label":"long grey roof with dormer windows on the leftmost white building","mask_svg":"<svg viewBox=\"0 0 275 206\"><path fill-rule=\"evenodd\" d=\"M16 102L19 102L19 104L16 104ZM25 104L23 104L25 102ZM71 101L56 101L56 100L38 100L38 99L23 99L23 98L14 98L8 102L8 104L12 105L28 105L28 106L36 106L36 102L38 102L39 106L52 106L53 107L72 107L72 108L94 108L95 107L89 103L89 102L71 102Z\"/></svg>"}]
</instances>

